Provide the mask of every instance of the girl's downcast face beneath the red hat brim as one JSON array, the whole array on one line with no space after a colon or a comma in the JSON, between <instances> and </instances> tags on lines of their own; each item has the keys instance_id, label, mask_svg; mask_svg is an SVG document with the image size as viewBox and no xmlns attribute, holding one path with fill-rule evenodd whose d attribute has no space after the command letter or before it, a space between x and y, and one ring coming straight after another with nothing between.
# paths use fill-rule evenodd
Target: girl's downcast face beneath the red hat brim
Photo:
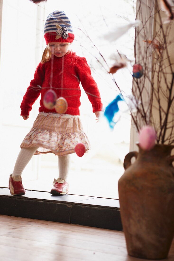
<instances>
[{"instance_id":1,"label":"girl's downcast face beneath the red hat brim","mask_svg":"<svg viewBox=\"0 0 174 261\"><path fill-rule=\"evenodd\" d=\"M50 49L50 52L56 57L64 56L69 50L68 43L61 42L50 42L48 43L48 47Z\"/></svg>"}]
</instances>

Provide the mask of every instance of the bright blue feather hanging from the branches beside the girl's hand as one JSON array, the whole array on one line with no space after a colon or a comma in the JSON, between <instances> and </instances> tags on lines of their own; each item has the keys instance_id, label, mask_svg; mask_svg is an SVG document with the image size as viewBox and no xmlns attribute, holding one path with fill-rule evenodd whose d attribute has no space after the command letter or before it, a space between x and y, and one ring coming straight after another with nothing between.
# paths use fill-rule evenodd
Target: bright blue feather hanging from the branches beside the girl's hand
<instances>
[{"instance_id":1,"label":"bright blue feather hanging from the branches beside the girl's hand","mask_svg":"<svg viewBox=\"0 0 174 261\"><path fill-rule=\"evenodd\" d=\"M109 126L112 130L116 124L116 122L113 121L113 117L119 111L118 102L121 100L123 100L123 97L122 95L118 94L117 97L109 105L107 105L104 112L104 116L107 118Z\"/></svg>"}]
</instances>

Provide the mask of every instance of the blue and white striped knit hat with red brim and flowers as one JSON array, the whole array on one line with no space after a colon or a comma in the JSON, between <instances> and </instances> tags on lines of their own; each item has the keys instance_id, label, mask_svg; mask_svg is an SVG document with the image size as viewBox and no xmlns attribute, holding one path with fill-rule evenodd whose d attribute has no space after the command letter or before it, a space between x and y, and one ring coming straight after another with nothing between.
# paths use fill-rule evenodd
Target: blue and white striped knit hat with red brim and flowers
<instances>
[{"instance_id":1,"label":"blue and white striped knit hat with red brim and flowers","mask_svg":"<svg viewBox=\"0 0 174 261\"><path fill-rule=\"evenodd\" d=\"M44 25L44 38L46 44L49 42L73 42L73 29L65 12L54 11L47 16Z\"/></svg>"}]
</instances>

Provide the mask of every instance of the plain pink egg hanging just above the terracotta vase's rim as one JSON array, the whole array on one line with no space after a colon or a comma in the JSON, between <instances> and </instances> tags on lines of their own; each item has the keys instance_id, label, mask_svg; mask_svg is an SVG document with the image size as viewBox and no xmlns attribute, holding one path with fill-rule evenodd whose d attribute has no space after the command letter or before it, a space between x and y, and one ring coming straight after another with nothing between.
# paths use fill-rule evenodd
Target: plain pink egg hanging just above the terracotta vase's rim
<instances>
[{"instance_id":1,"label":"plain pink egg hanging just above the terracotta vase's rim","mask_svg":"<svg viewBox=\"0 0 174 261\"><path fill-rule=\"evenodd\" d=\"M156 133L153 127L144 126L139 132L139 145L143 150L151 150L155 145Z\"/></svg>"}]
</instances>

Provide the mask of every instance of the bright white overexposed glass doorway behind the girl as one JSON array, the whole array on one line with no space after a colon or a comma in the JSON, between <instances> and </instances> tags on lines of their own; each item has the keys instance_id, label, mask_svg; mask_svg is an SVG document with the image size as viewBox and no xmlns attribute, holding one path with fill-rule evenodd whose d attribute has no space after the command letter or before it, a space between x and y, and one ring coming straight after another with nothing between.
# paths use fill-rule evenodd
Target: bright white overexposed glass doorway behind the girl
<instances>
[{"instance_id":1,"label":"bright white overexposed glass doorway behind the girl","mask_svg":"<svg viewBox=\"0 0 174 261\"><path fill-rule=\"evenodd\" d=\"M97 62L101 56L112 64L109 56L119 52L133 58L134 29L111 44L103 39L110 29L134 20L134 1L66 1L57 4L51 0L38 6L30 1L4 1L1 40L1 95L3 96L1 115L1 176L0 186L8 186L9 174L13 171L16 157L25 135L29 132L38 114L39 99L34 104L30 117L23 121L20 117L20 103L41 54L46 46L43 39L43 25L46 16L53 10L64 10L74 26L76 40L72 50L85 56L92 68L92 75L98 84L104 107L118 94L118 89L109 74ZM111 8L112 7L112 8ZM121 18L125 16L126 18ZM121 16L121 17L120 17ZM10 17L10 19L9 19ZM11 24L13 28L11 29ZM92 42L83 32L87 31ZM97 58L97 59L96 59ZM103 61L102 61L103 62ZM129 68L115 74L117 84L131 93L131 74ZM105 130L104 125L95 122L92 106L82 90L81 119L92 150L82 158L71 156L71 171L68 177L70 194L106 198L118 198L117 182L123 174L124 156L129 152L130 117L124 114L117 122L113 132ZM126 108L122 104L121 110ZM118 118L117 118L118 119ZM95 130L95 131L94 131ZM23 184L26 189L50 191L52 181L58 177L57 157L51 153L33 156L23 171Z\"/></svg>"}]
</instances>

